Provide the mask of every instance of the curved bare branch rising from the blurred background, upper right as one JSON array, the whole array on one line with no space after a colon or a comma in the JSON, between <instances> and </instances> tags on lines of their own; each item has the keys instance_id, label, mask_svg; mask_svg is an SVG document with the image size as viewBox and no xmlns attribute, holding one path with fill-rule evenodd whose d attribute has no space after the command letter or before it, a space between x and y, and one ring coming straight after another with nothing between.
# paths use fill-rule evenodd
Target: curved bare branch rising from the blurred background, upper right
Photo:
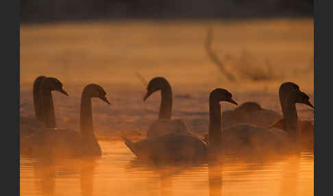
<instances>
[{"instance_id":1,"label":"curved bare branch rising from the blurred background, upper right","mask_svg":"<svg viewBox=\"0 0 333 196\"><path fill-rule=\"evenodd\" d=\"M229 73L227 70L225 70L223 62L221 62L221 60L219 60L219 57L217 57L217 55L214 53L214 51L211 48L212 39L213 39L212 27L208 27L207 31L208 32L207 32L205 47L206 47L208 57L219 68L221 73L227 77L227 79L229 79L230 81L234 81L235 80L234 76L231 73Z\"/></svg>"}]
</instances>

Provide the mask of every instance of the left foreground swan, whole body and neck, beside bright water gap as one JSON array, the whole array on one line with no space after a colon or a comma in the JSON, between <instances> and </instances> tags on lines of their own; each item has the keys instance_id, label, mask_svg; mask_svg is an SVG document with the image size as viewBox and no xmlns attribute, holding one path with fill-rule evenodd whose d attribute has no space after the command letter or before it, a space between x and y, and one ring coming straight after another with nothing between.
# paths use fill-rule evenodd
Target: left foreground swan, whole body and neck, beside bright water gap
<instances>
[{"instance_id":1,"label":"left foreground swan, whole body and neck, beside bright water gap","mask_svg":"<svg viewBox=\"0 0 333 196\"><path fill-rule=\"evenodd\" d=\"M80 132L71 129L45 129L29 138L24 151L30 155L82 156L100 155L101 147L93 130L92 98L99 98L108 104L106 91L97 84L88 84L81 97Z\"/></svg>"}]
</instances>

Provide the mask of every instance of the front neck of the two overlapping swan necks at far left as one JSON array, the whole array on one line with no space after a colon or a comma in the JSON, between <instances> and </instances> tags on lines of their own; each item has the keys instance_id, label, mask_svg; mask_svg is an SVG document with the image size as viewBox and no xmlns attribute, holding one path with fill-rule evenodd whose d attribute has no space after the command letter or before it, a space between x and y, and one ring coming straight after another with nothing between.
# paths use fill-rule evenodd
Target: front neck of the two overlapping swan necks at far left
<instances>
[{"instance_id":1,"label":"front neck of the two overlapping swan necks at far left","mask_svg":"<svg viewBox=\"0 0 333 196\"><path fill-rule=\"evenodd\" d=\"M40 99L38 102L40 104L40 108L42 108L42 119L45 125L48 128L56 127L56 114L54 112L54 104L51 90L47 90L45 88L40 88Z\"/></svg>"}]
</instances>

